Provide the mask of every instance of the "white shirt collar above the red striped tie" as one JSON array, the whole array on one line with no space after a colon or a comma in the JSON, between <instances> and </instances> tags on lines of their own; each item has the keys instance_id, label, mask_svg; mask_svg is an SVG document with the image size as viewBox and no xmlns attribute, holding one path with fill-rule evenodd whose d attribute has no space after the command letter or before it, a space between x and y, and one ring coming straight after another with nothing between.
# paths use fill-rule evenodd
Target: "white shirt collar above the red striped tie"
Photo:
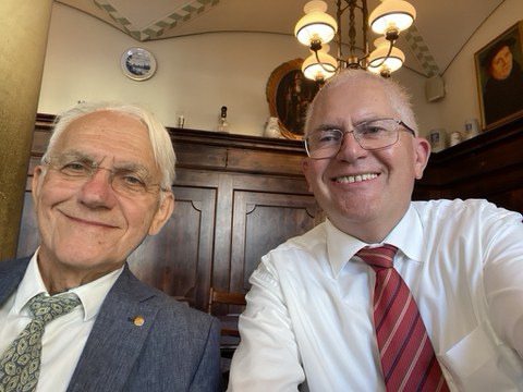
<instances>
[{"instance_id":1,"label":"white shirt collar above the red striped tie","mask_svg":"<svg viewBox=\"0 0 523 392\"><path fill-rule=\"evenodd\" d=\"M349 260L367 244L336 228L326 221L327 254L335 278L338 277ZM382 243L397 246L409 258L422 262L424 236L423 225L414 207L410 206L400 222L392 229Z\"/></svg>"}]
</instances>

